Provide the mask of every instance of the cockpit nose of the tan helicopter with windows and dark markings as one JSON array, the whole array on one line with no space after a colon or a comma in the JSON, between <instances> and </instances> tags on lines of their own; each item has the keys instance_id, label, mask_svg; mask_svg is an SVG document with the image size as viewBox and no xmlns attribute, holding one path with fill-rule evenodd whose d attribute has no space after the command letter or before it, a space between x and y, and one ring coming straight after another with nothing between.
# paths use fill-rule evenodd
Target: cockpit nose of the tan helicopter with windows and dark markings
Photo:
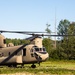
<instances>
[{"instance_id":1,"label":"cockpit nose of the tan helicopter with windows and dark markings","mask_svg":"<svg viewBox=\"0 0 75 75\"><path fill-rule=\"evenodd\" d=\"M35 57L39 63L41 61L47 60L47 58L49 56L45 47L39 48L38 46L33 46L31 51L32 51L31 56Z\"/></svg>"}]
</instances>

